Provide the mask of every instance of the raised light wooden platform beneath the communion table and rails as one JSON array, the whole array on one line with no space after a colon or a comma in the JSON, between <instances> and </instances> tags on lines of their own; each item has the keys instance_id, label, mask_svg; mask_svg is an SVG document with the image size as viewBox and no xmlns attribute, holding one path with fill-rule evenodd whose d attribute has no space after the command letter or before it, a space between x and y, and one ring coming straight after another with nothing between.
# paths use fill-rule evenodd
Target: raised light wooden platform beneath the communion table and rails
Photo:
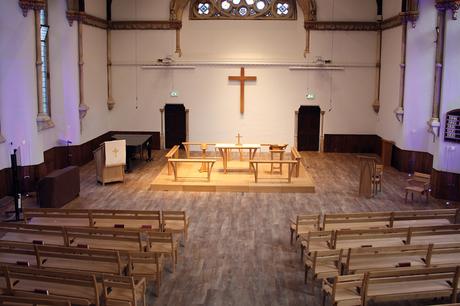
<instances>
[{"instance_id":1,"label":"raised light wooden platform beneath the communion table and rails","mask_svg":"<svg viewBox=\"0 0 460 306\"><path fill-rule=\"evenodd\" d=\"M174 175L168 175L166 165L152 182L150 189L157 191L207 191L207 192L315 192L315 185L310 174L300 167L299 177L287 180L287 167L283 175L278 172L270 174L270 165L260 165L258 182L254 182L254 173L249 172L248 160L229 161L228 173L224 174L222 159L218 159L211 173L210 182L207 173L198 170L201 164L180 164L177 170L179 178L174 181Z\"/></svg>"}]
</instances>

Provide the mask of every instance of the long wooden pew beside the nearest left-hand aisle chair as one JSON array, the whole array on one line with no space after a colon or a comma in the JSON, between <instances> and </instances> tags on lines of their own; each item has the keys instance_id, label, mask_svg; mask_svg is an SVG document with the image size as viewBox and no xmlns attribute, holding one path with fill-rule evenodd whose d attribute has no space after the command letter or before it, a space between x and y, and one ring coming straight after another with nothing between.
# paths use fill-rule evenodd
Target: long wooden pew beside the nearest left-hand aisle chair
<instances>
[{"instance_id":1,"label":"long wooden pew beside the nearest left-hand aisle chair","mask_svg":"<svg viewBox=\"0 0 460 306\"><path fill-rule=\"evenodd\" d=\"M3 269L9 291L15 296L49 295L76 305L100 305L100 286L93 274L17 266L3 266Z\"/></svg>"}]
</instances>

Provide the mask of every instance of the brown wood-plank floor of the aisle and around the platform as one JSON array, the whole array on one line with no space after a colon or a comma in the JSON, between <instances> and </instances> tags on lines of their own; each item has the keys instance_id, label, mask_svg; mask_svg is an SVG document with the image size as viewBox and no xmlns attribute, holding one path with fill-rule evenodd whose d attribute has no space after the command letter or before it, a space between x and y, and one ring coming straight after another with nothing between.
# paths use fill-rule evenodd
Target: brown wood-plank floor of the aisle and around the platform
<instances>
[{"instance_id":1,"label":"brown wood-plank floor of the aisle and around the platform","mask_svg":"<svg viewBox=\"0 0 460 306\"><path fill-rule=\"evenodd\" d=\"M84 166L80 197L67 205L187 211L189 241L180 250L178 269L165 273L160 296L150 294L148 305L321 305L320 283L314 289L303 285L299 254L289 245L290 217L444 207L436 200L405 204L401 186L406 175L394 169L385 169L383 192L376 198L358 198L357 157L332 153L302 153L315 193L150 191L150 183L166 163L164 154L155 151L155 161L137 164L125 183L104 187L96 184L94 163ZM396 305L430 303L434 304Z\"/></svg>"}]
</instances>

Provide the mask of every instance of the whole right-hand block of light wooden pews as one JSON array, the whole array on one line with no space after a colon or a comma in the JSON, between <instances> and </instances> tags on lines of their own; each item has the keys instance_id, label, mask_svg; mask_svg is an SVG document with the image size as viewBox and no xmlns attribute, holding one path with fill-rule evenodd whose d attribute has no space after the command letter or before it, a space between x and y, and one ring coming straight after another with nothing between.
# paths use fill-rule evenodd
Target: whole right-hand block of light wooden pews
<instances>
[{"instance_id":1,"label":"whole right-hand block of light wooden pews","mask_svg":"<svg viewBox=\"0 0 460 306\"><path fill-rule=\"evenodd\" d=\"M323 303L328 297L333 305L366 305L446 296L456 302L460 225L452 223L458 221L458 210L309 215L299 220L305 223L296 227L293 222L291 235L301 246L305 282L309 273L313 280L323 280Z\"/></svg>"}]
</instances>

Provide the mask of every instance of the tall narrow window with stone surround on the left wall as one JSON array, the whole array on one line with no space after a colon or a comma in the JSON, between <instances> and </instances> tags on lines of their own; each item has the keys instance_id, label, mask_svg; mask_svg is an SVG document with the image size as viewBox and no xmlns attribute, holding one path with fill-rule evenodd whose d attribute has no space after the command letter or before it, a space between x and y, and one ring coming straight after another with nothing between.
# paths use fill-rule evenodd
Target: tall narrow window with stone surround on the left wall
<instances>
[{"instance_id":1,"label":"tall narrow window with stone surround on the left wall","mask_svg":"<svg viewBox=\"0 0 460 306\"><path fill-rule=\"evenodd\" d=\"M35 11L35 39L37 57L38 130L53 127L50 103L50 69L48 16L45 8Z\"/></svg>"}]
</instances>

